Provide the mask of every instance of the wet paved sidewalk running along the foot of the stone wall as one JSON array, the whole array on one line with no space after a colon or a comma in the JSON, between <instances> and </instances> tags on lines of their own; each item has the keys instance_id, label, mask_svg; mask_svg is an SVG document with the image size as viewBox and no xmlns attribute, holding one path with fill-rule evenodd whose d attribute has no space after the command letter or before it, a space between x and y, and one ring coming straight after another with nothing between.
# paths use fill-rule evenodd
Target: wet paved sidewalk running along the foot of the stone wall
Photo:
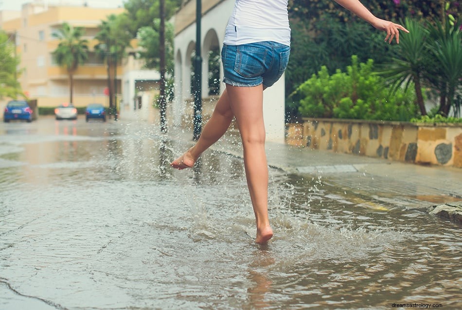
<instances>
[{"instance_id":1,"label":"wet paved sidewalk running along the foot of the stone wall","mask_svg":"<svg viewBox=\"0 0 462 310\"><path fill-rule=\"evenodd\" d=\"M180 136L191 138L184 133ZM233 133L220 139L211 149L242 157L239 137ZM370 198L378 205L427 209L462 202L462 169L420 166L271 141L266 143L266 150L270 167L310 178L321 177L323 183L341 192Z\"/></svg>"}]
</instances>

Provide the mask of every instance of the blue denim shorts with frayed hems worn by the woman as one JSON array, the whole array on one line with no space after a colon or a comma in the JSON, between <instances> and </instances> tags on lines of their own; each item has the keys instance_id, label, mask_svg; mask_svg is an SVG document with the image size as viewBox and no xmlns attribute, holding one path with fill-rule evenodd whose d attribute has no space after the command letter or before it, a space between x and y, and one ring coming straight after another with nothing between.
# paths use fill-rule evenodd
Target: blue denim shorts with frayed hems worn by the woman
<instances>
[{"instance_id":1,"label":"blue denim shorts with frayed hems worn by the woman","mask_svg":"<svg viewBox=\"0 0 462 310\"><path fill-rule=\"evenodd\" d=\"M283 75L290 47L273 41L223 45L223 82L232 86L269 87Z\"/></svg>"}]
</instances>

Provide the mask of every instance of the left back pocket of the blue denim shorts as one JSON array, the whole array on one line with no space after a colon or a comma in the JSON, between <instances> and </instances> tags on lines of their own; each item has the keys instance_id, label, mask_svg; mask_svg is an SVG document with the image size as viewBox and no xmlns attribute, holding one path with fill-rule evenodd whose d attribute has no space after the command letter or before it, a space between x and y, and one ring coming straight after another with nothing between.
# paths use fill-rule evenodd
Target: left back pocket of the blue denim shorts
<instances>
[{"instance_id":1,"label":"left back pocket of the blue denim shorts","mask_svg":"<svg viewBox=\"0 0 462 310\"><path fill-rule=\"evenodd\" d=\"M250 45L238 46L234 70L245 78L262 75L267 57L267 49Z\"/></svg>"}]
</instances>

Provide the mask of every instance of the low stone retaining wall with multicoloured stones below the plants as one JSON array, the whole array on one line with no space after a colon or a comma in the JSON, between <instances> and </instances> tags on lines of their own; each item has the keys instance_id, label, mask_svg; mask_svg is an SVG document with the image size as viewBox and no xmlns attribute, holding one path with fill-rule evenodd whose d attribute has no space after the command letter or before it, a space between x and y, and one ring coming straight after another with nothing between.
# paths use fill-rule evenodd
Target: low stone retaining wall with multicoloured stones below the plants
<instances>
[{"instance_id":1,"label":"low stone retaining wall with multicoloured stones below the plants","mask_svg":"<svg viewBox=\"0 0 462 310\"><path fill-rule=\"evenodd\" d=\"M312 149L462 168L461 124L303 119L286 143Z\"/></svg>"}]
</instances>

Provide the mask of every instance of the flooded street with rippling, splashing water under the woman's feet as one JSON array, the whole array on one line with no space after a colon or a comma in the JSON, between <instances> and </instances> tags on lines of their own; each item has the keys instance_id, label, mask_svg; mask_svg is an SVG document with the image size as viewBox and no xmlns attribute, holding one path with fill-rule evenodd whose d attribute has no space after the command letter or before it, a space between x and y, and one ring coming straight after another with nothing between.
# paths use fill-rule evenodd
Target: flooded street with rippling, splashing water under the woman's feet
<instances>
[{"instance_id":1,"label":"flooded street with rippling, splashing water under the woman's feet","mask_svg":"<svg viewBox=\"0 0 462 310\"><path fill-rule=\"evenodd\" d=\"M242 159L175 171L175 135L1 123L0 309L462 308L460 225L270 169L275 236L257 245Z\"/></svg>"}]
</instances>

